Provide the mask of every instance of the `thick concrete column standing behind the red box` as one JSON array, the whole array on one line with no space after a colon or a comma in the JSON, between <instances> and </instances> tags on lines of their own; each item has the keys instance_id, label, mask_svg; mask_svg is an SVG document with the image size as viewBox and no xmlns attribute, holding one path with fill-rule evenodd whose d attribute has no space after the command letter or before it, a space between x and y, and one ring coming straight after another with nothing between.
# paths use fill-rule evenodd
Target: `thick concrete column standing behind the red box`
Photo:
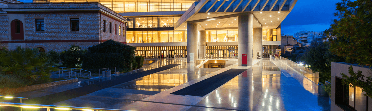
<instances>
[{"instance_id":1,"label":"thick concrete column standing behind the red box","mask_svg":"<svg viewBox=\"0 0 372 111\"><path fill-rule=\"evenodd\" d=\"M253 14L238 16L238 66L241 66L241 55L247 54L247 66L252 66Z\"/></svg>"}]
</instances>

